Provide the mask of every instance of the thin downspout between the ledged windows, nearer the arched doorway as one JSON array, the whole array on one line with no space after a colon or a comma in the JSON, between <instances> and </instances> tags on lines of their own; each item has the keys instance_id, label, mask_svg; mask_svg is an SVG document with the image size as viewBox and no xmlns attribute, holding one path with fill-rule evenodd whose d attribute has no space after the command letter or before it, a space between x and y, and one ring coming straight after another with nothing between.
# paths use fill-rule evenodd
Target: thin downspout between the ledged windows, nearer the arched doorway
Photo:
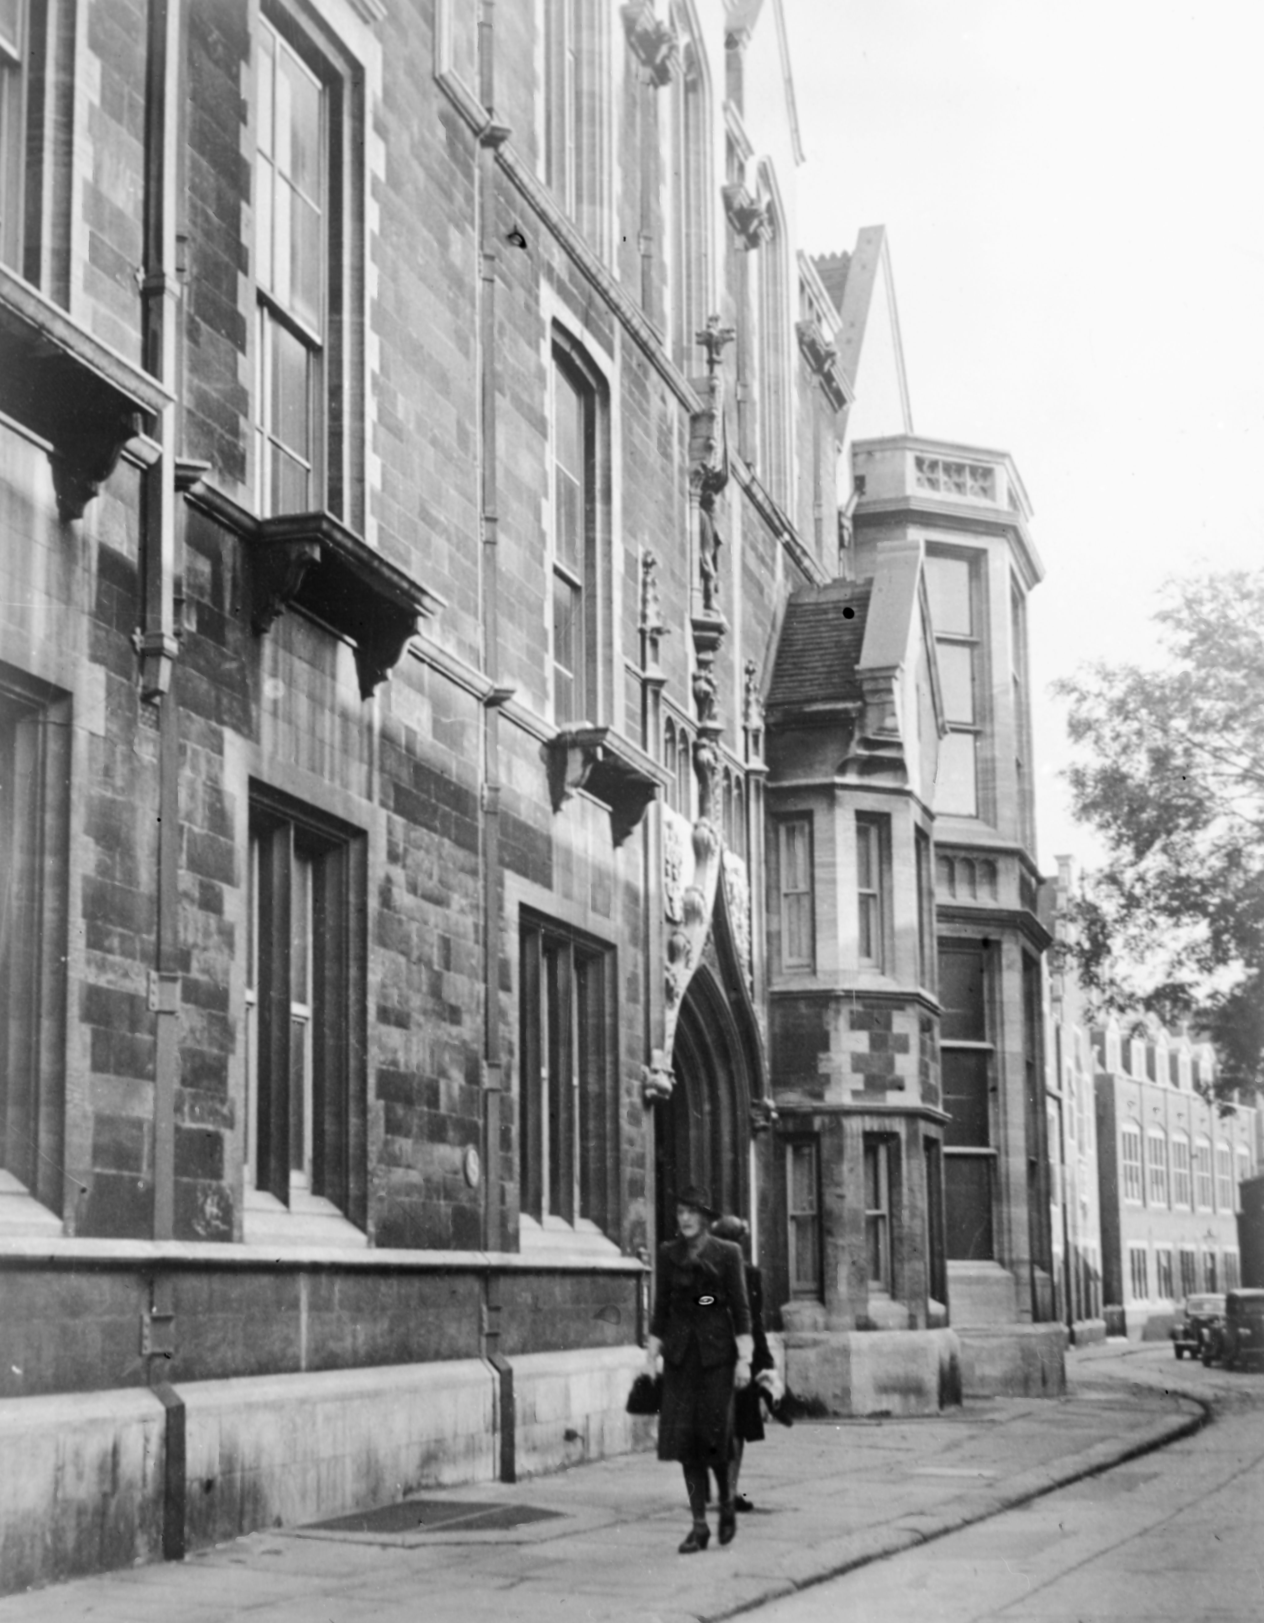
<instances>
[{"instance_id":1,"label":"thin downspout between the ledged windows, nearer the arched doorway","mask_svg":"<svg viewBox=\"0 0 1264 1623\"><path fill-rule=\"evenodd\" d=\"M500 708L511 688L500 683L500 560L497 553L497 148L508 138L495 117L495 0L479 10L479 96L487 123L479 133L479 505L482 531L482 665L488 678L482 725L482 901L484 901L484 1133L482 1133L482 1230L484 1251L505 1250L501 1201L501 1045L500 1045ZM484 1274L480 1352L498 1378L500 1480L516 1480L513 1368L500 1350L500 1274Z\"/></svg>"}]
</instances>

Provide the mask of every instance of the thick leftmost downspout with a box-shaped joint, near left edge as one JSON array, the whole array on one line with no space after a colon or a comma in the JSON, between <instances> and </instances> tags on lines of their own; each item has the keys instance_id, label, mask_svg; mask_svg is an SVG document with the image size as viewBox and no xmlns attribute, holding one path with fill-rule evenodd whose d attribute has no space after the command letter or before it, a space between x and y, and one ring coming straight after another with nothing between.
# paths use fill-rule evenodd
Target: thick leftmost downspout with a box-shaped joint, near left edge
<instances>
[{"instance_id":1,"label":"thick leftmost downspout with a box-shaped joint, near left edge","mask_svg":"<svg viewBox=\"0 0 1264 1623\"><path fill-rule=\"evenodd\" d=\"M177 240L183 230L183 8L151 0L148 10L144 127L143 362L172 396L157 420L143 474L144 622L138 638L141 698L157 706L157 919L149 1008L154 1013L154 1240L175 1237L175 1089L180 1073L180 725L175 669L177 534L175 459L180 450L182 292ZM149 1384L166 1410L162 1555L185 1553L185 1406L167 1381L175 1355L170 1274L151 1279L141 1319Z\"/></svg>"}]
</instances>

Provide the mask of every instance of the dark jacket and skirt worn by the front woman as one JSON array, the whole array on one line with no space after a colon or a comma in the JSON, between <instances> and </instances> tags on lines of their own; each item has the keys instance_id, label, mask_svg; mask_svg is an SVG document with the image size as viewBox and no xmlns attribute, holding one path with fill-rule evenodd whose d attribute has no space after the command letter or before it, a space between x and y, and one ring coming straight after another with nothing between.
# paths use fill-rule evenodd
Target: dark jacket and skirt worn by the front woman
<instances>
[{"instance_id":1,"label":"dark jacket and skirt worn by the front woman","mask_svg":"<svg viewBox=\"0 0 1264 1623\"><path fill-rule=\"evenodd\" d=\"M662 1342L659 1459L727 1464L737 1337L751 1332L742 1248L714 1235L696 1256L683 1237L659 1246L649 1331Z\"/></svg>"}]
</instances>

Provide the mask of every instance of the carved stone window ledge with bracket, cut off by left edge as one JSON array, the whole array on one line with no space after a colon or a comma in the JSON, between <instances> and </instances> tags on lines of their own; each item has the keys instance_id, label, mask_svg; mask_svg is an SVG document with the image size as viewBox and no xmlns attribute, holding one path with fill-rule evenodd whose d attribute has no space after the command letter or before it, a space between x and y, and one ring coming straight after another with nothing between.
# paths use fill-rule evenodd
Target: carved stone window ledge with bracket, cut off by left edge
<instances>
[{"instance_id":1,"label":"carved stone window ledge with bracket, cut off by left edge","mask_svg":"<svg viewBox=\"0 0 1264 1623\"><path fill-rule=\"evenodd\" d=\"M3 266L0 354L0 412L50 443L57 511L63 523L83 518L170 396Z\"/></svg>"}]
</instances>

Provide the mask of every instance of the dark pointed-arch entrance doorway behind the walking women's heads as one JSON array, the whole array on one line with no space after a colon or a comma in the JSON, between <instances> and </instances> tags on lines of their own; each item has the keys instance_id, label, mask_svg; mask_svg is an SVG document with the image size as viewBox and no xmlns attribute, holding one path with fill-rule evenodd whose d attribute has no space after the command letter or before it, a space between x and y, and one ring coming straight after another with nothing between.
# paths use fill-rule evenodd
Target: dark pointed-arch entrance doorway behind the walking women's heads
<instances>
[{"instance_id":1,"label":"dark pointed-arch entrance doorway behind the walking women's heads","mask_svg":"<svg viewBox=\"0 0 1264 1623\"><path fill-rule=\"evenodd\" d=\"M750 1066L737 1021L707 964L690 980L672 1050L675 1087L656 1107L659 1240L675 1233L673 1196L686 1183L711 1190L719 1211L750 1206Z\"/></svg>"}]
</instances>

